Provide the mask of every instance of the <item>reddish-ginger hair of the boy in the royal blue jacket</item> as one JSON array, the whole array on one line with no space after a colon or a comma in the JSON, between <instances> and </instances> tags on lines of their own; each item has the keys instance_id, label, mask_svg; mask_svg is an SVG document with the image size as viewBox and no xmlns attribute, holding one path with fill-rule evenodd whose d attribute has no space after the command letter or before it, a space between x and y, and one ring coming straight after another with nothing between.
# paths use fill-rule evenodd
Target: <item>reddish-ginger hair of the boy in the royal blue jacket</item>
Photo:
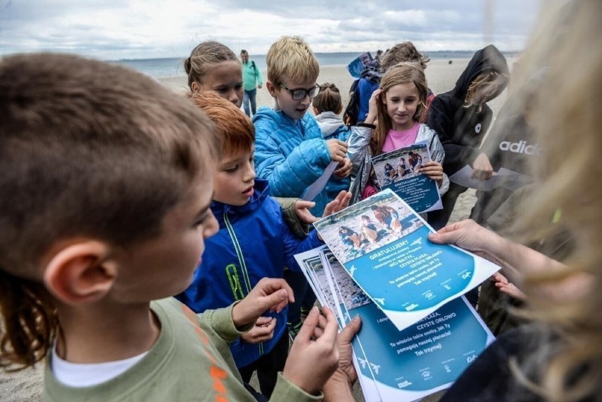
<instances>
[{"instance_id":1,"label":"reddish-ginger hair of the boy in the royal blue jacket","mask_svg":"<svg viewBox=\"0 0 602 402\"><path fill-rule=\"evenodd\" d=\"M253 148L255 128L239 107L210 91L195 93L191 100L216 124L223 138L223 155L239 155Z\"/></svg>"}]
</instances>

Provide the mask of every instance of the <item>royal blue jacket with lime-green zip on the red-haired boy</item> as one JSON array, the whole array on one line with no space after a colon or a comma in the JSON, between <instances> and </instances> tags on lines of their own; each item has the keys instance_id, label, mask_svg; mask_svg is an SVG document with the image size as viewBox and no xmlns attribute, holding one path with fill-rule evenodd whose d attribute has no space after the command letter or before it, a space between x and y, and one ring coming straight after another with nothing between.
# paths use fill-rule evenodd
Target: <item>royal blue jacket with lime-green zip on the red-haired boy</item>
<instances>
[{"instance_id":1,"label":"royal blue jacket with lime-green zip on the red-haired boy","mask_svg":"<svg viewBox=\"0 0 602 402\"><path fill-rule=\"evenodd\" d=\"M294 255L324 244L315 230L305 240L293 235L280 205L268 196L265 180L256 180L254 195L244 206L213 201L211 211L220 230L205 240L203 261L196 268L191 285L177 295L197 313L241 300L261 278L282 278L285 266L299 271ZM247 366L269 353L286 331L286 309L262 315L276 318L274 336L261 343L242 339L232 343L230 350L237 367Z\"/></svg>"}]
</instances>

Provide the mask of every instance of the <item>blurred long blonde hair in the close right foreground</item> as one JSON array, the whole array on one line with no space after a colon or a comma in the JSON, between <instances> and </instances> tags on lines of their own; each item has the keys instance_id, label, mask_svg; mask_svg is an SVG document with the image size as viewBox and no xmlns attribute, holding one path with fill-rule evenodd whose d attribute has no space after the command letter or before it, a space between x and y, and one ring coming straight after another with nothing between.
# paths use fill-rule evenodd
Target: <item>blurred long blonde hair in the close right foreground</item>
<instances>
[{"instance_id":1,"label":"blurred long blonde hair in the close right foreground","mask_svg":"<svg viewBox=\"0 0 602 402\"><path fill-rule=\"evenodd\" d=\"M553 402L602 394L602 187L589 180L602 176L601 15L601 1L578 0L553 13L553 18L540 18L542 25L513 72L517 83L524 83L545 69L531 109L543 146L534 166L538 190L516 231L525 234L522 241L560 230L577 238L563 260L564 270L524 280L529 317L542 324L541 341L526 362L514 365L514 372L519 381ZM557 211L562 211L562 225L541 225ZM536 292L542 286L562 286L562 280L583 273L593 277L593 286L574 300L543 300ZM552 332L558 337L555 342L547 339Z\"/></svg>"}]
</instances>

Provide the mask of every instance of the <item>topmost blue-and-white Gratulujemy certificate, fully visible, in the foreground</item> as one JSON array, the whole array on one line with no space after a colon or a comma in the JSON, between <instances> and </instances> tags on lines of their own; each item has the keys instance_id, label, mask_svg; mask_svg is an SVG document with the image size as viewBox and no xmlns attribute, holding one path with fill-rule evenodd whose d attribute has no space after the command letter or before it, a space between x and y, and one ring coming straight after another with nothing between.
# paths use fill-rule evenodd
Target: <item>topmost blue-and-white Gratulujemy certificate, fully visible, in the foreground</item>
<instances>
[{"instance_id":1,"label":"topmost blue-and-white Gratulujemy certificate, fully visible, in the foreground","mask_svg":"<svg viewBox=\"0 0 602 402\"><path fill-rule=\"evenodd\" d=\"M500 269L427 239L432 229L386 189L314 223L350 276L400 331Z\"/></svg>"}]
</instances>

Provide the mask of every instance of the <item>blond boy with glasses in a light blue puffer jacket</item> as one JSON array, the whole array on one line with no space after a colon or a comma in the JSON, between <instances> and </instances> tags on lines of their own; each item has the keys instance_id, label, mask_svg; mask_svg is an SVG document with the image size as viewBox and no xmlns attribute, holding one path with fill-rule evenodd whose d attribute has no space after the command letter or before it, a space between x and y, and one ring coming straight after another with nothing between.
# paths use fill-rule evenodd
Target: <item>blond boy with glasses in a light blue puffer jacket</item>
<instances>
[{"instance_id":1,"label":"blond boy with glasses in a light blue puffer jacket","mask_svg":"<svg viewBox=\"0 0 602 402\"><path fill-rule=\"evenodd\" d=\"M255 126L255 170L269 183L270 195L300 197L330 162L338 162L334 177L347 177L351 163L347 144L336 138L324 141L319 126L307 109L320 87L316 80L319 65L307 43L300 37L281 37L266 55L266 88L276 100L276 109L261 107L253 116ZM324 188L313 200L314 215L321 215L328 203ZM301 308L307 310L315 295L305 276L287 272L297 303L289 308L290 333L295 336L301 323Z\"/></svg>"}]
</instances>

